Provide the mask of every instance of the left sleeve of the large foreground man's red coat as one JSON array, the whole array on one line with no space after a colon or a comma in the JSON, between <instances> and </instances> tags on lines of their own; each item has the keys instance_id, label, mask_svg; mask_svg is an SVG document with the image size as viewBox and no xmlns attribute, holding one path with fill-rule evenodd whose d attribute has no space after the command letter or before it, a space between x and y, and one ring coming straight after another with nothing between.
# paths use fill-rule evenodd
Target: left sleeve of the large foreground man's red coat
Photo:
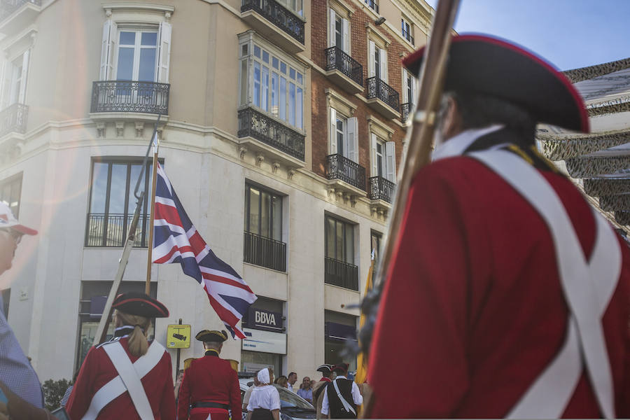
<instances>
[{"instance_id":1,"label":"left sleeve of the large foreground man's red coat","mask_svg":"<svg viewBox=\"0 0 630 420\"><path fill-rule=\"evenodd\" d=\"M409 191L381 297L369 363L373 417L448 417L468 388L463 209L447 174L426 169ZM396 365L413 386L392 386Z\"/></svg>"}]
</instances>

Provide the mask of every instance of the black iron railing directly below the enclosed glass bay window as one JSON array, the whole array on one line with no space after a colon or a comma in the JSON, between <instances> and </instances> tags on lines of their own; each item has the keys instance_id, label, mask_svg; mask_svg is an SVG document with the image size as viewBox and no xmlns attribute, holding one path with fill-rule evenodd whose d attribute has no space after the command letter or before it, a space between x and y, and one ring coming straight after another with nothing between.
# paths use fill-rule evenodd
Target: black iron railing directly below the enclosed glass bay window
<instances>
[{"instance_id":1,"label":"black iron railing directly below the enclosed glass bay window","mask_svg":"<svg viewBox=\"0 0 630 420\"><path fill-rule=\"evenodd\" d=\"M304 135L252 108L239 111L239 139L253 137L304 161Z\"/></svg>"}]
</instances>

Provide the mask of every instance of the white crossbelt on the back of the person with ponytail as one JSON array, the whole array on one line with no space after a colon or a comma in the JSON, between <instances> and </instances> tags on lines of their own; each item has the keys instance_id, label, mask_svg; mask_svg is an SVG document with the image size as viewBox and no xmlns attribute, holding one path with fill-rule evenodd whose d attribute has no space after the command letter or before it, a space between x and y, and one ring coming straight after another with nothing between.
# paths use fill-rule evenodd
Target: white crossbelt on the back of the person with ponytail
<instances>
[{"instance_id":1,"label":"white crossbelt on the back of the person with ponytail","mask_svg":"<svg viewBox=\"0 0 630 420\"><path fill-rule=\"evenodd\" d=\"M141 419L153 419L153 410L148 402L141 379L158 365L166 349L162 344L153 341L144 356L133 364L120 342L105 344L103 349L118 371L118 376L102 386L92 397L90 407L83 420L94 420L99 412L119 395L129 391L134 407ZM121 353L122 351L122 353ZM141 395L140 395L141 394ZM144 397L144 398L143 398Z\"/></svg>"}]
</instances>

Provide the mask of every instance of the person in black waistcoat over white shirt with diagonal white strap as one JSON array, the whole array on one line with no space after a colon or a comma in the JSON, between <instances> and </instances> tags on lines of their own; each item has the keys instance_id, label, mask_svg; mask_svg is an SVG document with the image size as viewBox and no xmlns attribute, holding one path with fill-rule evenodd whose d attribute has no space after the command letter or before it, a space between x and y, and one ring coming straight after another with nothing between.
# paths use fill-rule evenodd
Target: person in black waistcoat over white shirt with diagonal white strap
<instances>
[{"instance_id":1,"label":"person in black waistcoat over white shirt with diagonal white strap","mask_svg":"<svg viewBox=\"0 0 630 420\"><path fill-rule=\"evenodd\" d=\"M354 381L346 378L348 363L339 363L332 371L337 377L326 386L321 414L324 419L356 419L356 407L363 404L363 396Z\"/></svg>"}]
</instances>

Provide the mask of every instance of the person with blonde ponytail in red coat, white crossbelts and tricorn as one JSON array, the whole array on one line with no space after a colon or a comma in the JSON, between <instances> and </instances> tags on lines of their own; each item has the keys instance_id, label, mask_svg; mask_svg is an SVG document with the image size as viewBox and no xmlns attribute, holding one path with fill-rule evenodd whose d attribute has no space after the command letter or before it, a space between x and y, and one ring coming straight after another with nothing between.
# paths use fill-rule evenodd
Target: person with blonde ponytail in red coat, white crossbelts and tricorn
<instances>
[{"instance_id":1,"label":"person with blonde ponytail in red coat, white crossbelts and tricorn","mask_svg":"<svg viewBox=\"0 0 630 420\"><path fill-rule=\"evenodd\" d=\"M169 310L144 293L120 294L114 337L87 352L66 405L71 419L172 419L175 396L171 356L148 342L152 318Z\"/></svg>"}]
</instances>

